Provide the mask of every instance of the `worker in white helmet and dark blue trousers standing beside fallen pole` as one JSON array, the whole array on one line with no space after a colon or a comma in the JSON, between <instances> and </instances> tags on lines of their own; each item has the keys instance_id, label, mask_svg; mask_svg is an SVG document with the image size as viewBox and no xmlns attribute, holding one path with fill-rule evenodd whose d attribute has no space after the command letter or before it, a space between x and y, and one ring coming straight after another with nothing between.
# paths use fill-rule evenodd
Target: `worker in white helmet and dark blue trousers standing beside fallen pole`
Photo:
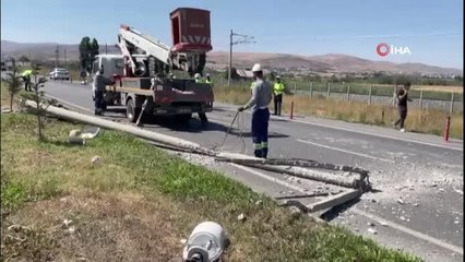
<instances>
[{"instance_id":1,"label":"worker in white helmet and dark blue trousers standing beside fallen pole","mask_svg":"<svg viewBox=\"0 0 465 262\"><path fill-rule=\"evenodd\" d=\"M253 154L255 157L266 158L269 154L269 104L273 97L273 90L264 79L260 63L252 68L253 84L252 97L245 105L238 108L238 111L252 108L252 139Z\"/></svg>"}]
</instances>

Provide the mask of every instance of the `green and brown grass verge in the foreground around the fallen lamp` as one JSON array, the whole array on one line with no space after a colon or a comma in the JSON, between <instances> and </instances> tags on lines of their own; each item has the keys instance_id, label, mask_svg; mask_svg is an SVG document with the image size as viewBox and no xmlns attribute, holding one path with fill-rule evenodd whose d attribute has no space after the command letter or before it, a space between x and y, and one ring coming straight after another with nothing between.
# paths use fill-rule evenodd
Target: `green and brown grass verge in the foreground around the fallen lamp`
<instances>
[{"instance_id":1,"label":"green and brown grass verge in the foreground around the fallen lamp","mask_svg":"<svg viewBox=\"0 0 465 262\"><path fill-rule=\"evenodd\" d=\"M2 260L180 261L180 239L215 221L230 240L225 261L420 261L295 217L241 183L119 132L71 146L67 134L76 128L51 120L48 141L37 141L33 116L1 116Z\"/></svg>"}]
</instances>

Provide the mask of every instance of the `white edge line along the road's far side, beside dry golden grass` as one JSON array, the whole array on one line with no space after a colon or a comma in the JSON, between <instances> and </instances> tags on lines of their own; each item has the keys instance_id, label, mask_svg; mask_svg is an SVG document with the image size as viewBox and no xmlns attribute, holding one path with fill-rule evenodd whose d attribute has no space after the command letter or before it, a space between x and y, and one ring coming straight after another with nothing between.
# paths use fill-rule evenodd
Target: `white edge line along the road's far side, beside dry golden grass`
<instances>
[{"instance_id":1,"label":"white edge line along the road's far side, beside dry golden grass","mask_svg":"<svg viewBox=\"0 0 465 262\"><path fill-rule=\"evenodd\" d=\"M229 108L224 108L224 109L229 110L229 111L235 111L234 109L229 109ZM250 114L250 112L247 112L247 114ZM452 146L446 146L446 145L422 142L422 141L418 141L418 140L409 140L409 139L396 138L396 136L391 136L391 135L370 133L370 132L354 130L354 129L349 129L349 128L341 128L341 127L327 126L327 124L323 124L323 123L307 122L307 121L301 121L301 120L296 120L296 119L286 119L284 117L273 117L272 116L271 118L281 119L281 120L290 121L290 122L298 122L298 123L303 123L303 124L309 124L309 126L317 126L317 127L322 127L322 128L343 130L343 131L348 131L348 132L353 132L353 133L361 133L361 134L367 134L367 135L378 136L378 138L383 138L383 139L398 140L398 141L404 141L404 142L409 142L409 143L436 146L436 147L441 147L441 148L446 148L446 150L461 151L461 152L464 151L461 147L452 147Z\"/></svg>"}]
</instances>

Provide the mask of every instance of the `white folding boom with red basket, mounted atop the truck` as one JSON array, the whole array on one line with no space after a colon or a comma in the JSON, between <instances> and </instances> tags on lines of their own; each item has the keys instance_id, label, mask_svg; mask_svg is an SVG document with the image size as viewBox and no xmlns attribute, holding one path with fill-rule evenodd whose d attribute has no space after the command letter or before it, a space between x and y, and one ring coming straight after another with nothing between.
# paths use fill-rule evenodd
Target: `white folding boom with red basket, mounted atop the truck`
<instances>
[{"instance_id":1,"label":"white folding boom with red basket, mounted atop the truck","mask_svg":"<svg viewBox=\"0 0 465 262\"><path fill-rule=\"evenodd\" d=\"M134 76L153 76L171 70L187 71L191 75L202 73L205 53L212 49L210 11L179 8L170 13L170 19L172 47L121 25L118 45Z\"/></svg>"}]
</instances>

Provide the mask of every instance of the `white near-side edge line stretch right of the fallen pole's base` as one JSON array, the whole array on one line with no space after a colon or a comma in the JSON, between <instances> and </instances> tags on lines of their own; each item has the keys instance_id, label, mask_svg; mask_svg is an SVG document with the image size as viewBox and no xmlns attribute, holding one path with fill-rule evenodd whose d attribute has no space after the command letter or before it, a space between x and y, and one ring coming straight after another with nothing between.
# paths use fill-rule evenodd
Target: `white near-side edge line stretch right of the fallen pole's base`
<instances>
[{"instance_id":1,"label":"white near-side edge line stretch right of the fallen pole's base","mask_svg":"<svg viewBox=\"0 0 465 262\"><path fill-rule=\"evenodd\" d=\"M415 231L415 230L413 230L413 229L410 229L408 227L405 227L403 225L396 224L394 222L390 222L390 221L383 219L383 218L381 218L381 217L379 217L377 215L369 214L369 213L367 213L365 211L361 211L361 210L350 209L349 211L351 211L351 212L354 212L354 213L356 213L358 215L361 215L361 216L368 217L370 219L373 219L373 221L375 221L375 222L378 222L380 224L386 223L390 227L392 227L394 229L397 229L397 230L403 231L405 234L412 235L412 236L414 236L416 238L422 239L422 240L428 241L430 243L434 243L434 245L437 245L437 246L439 246L441 248L448 249L448 250L450 250L452 252L455 252L455 253L458 253L458 254L462 254L462 255L464 254L464 250L461 247L454 246L452 243L444 242L444 241L442 241L440 239L430 237L430 236L425 235L422 233Z\"/></svg>"}]
</instances>

